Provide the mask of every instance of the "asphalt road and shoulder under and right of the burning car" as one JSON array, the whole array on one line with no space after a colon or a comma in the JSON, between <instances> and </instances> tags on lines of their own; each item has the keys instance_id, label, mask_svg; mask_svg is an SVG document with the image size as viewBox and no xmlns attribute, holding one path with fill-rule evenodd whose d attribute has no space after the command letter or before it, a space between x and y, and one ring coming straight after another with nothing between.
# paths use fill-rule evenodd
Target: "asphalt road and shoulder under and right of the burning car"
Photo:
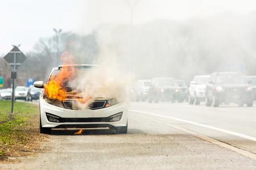
<instances>
[{"instance_id":1,"label":"asphalt road and shoulder under and right of the burning car","mask_svg":"<svg viewBox=\"0 0 256 170\"><path fill-rule=\"evenodd\" d=\"M5 169L256 169L256 107L130 103L128 134L54 130Z\"/></svg>"}]
</instances>

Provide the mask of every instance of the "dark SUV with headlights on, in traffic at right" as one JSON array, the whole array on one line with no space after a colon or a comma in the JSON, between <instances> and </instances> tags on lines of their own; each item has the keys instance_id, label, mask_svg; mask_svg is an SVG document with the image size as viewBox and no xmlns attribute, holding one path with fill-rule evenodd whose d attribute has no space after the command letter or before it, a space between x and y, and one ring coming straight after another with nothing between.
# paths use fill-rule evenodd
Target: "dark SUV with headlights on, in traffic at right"
<instances>
[{"instance_id":1,"label":"dark SUV with headlights on, in traffic at right","mask_svg":"<svg viewBox=\"0 0 256 170\"><path fill-rule=\"evenodd\" d=\"M216 72L210 75L206 86L206 105L236 103L242 107L253 106L253 90L241 73Z\"/></svg>"}]
</instances>

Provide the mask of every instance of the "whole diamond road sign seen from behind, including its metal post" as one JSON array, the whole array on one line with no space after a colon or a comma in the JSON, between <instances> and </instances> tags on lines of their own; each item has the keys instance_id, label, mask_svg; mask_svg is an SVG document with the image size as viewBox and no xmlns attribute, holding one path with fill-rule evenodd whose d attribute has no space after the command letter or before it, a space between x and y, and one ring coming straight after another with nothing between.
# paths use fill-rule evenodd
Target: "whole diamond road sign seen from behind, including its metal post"
<instances>
[{"instance_id":1,"label":"whole diamond road sign seen from behind, including its metal post","mask_svg":"<svg viewBox=\"0 0 256 170\"><path fill-rule=\"evenodd\" d=\"M14 97L15 97L15 81L16 79L16 69L27 59L27 57L19 50L17 46L14 46L11 51L6 54L5 60L9 62L9 65L13 67L13 71L11 72L11 79L13 82L13 92L11 95L11 113L9 114L10 119L13 119L14 113L13 113L13 108L14 108Z\"/></svg>"}]
</instances>

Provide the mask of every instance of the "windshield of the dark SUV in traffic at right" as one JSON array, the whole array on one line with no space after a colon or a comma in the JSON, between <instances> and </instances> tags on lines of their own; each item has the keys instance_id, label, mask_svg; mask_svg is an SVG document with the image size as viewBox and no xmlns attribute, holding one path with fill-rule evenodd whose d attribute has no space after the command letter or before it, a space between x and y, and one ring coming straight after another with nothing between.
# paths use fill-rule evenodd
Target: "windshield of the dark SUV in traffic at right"
<instances>
[{"instance_id":1,"label":"windshield of the dark SUV in traffic at right","mask_svg":"<svg viewBox=\"0 0 256 170\"><path fill-rule=\"evenodd\" d=\"M216 83L245 83L245 76L241 74L222 74L216 78Z\"/></svg>"}]
</instances>

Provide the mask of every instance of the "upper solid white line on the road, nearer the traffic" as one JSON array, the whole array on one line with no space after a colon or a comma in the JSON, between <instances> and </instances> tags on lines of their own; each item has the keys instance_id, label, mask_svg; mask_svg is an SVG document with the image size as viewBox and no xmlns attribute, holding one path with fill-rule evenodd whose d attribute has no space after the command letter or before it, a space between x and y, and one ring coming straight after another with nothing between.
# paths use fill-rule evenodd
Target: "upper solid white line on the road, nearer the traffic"
<instances>
[{"instance_id":1,"label":"upper solid white line on the road, nearer the traffic","mask_svg":"<svg viewBox=\"0 0 256 170\"><path fill-rule=\"evenodd\" d=\"M130 109L129 111L138 112L138 113L144 113L144 114L150 114L150 115L153 115L153 116L158 116L158 117L163 117L163 118L170 118L172 120L176 120L176 121L180 121L180 122L185 122L187 124L197 125L197 126L201 126L201 127L208 128L208 129L213 129L213 130L221 131L221 132L224 132L224 133L227 133L227 134L235 135L237 137L249 139L251 141L256 142L256 138L250 137L250 136L245 135L245 134L237 133L235 131L230 131L230 130L225 130L225 129L221 129L221 128L216 128L216 127L208 126L208 125L204 125L204 124L198 124L196 122L183 120L181 118L175 118L175 117L171 117L171 116L163 116L163 115L160 115L160 114L155 114L155 113L150 113L150 112L138 111L138 110L134 110L134 109Z\"/></svg>"}]
</instances>

